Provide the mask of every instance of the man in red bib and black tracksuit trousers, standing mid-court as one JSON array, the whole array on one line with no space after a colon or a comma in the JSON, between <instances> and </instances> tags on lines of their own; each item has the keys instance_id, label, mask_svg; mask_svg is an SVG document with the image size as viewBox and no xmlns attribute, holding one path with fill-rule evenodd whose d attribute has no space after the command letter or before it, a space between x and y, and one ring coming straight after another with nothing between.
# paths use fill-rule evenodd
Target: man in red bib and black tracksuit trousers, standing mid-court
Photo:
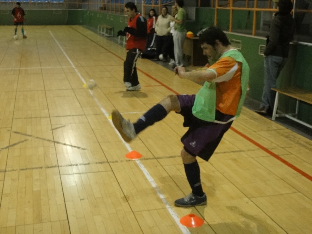
<instances>
[{"instance_id":1,"label":"man in red bib and black tracksuit trousers, standing mid-court","mask_svg":"<svg viewBox=\"0 0 312 234\"><path fill-rule=\"evenodd\" d=\"M127 91L137 91L141 89L136 61L144 51L147 40L147 21L140 15L136 5L128 2L124 6L124 12L128 16L128 26L124 30L119 30L118 36L127 37L127 56L124 61L124 85Z\"/></svg>"}]
</instances>

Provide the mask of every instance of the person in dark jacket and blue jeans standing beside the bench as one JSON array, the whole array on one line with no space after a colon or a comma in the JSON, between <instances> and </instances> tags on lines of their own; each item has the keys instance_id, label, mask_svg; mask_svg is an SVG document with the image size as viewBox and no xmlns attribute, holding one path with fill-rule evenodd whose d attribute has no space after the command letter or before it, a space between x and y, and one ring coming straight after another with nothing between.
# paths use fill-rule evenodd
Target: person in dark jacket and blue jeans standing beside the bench
<instances>
[{"instance_id":1,"label":"person in dark jacket and blue jeans standing beside the bench","mask_svg":"<svg viewBox=\"0 0 312 234\"><path fill-rule=\"evenodd\" d=\"M284 67L288 52L289 43L295 34L295 23L290 14L293 8L291 0L280 0L277 3L278 11L270 25L270 35L266 41L264 51L264 87L262 100L256 113L260 115L272 115L275 94L271 88L276 88L276 79Z\"/></svg>"}]
</instances>

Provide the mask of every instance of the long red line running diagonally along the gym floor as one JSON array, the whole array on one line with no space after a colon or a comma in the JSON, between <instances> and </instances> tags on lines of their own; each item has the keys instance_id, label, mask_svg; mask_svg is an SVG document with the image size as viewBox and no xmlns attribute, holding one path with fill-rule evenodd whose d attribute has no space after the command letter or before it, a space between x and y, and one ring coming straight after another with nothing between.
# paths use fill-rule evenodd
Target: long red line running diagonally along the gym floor
<instances>
[{"instance_id":1,"label":"long red line running diagonally along the gym floor","mask_svg":"<svg viewBox=\"0 0 312 234\"><path fill-rule=\"evenodd\" d=\"M95 44L97 44L98 46L102 47L103 49L105 49L106 51L110 52L111 54L115 55L116 57L120 58L121 60L124 61L123 58L119 57L118 55L116 55L115 53L113 53L112 51L106 49L104 46L100 45L99 43L97 43L96 41L93 41L92 39L90 39L89 37L85 36L84 34L82 34L81 32L77 31L75 28L71 27L73 30L75 30L76 32L80 33L82 36L88 38L90 41L94 42ZM171 89L170 87L168 87L167 85L163 84L162 82L160 82L159 80L156 80L154 77L150 76L149 74L147 74L146 72L142 71L141 69L137 68L137 70L139 70L140 72L142 72L145 76L148 76L150 79L156 81L157 83L159 83L160 85L162 85L163 87L165 87L166 89L170 90L171 92L173 92L176 95L179 95L178 92L174 91L173 89ZM296 172L298 172L300 175L304 176L305 178L307 178L308 180L312 181L312 176L310 176L309 174L305 173L304 171L300 170L299 168L297 168L296 166L294 166L293 164L287 162L285 159L281 158L280 156L278 156L277 154L274 154L271 150L266 149L264 146L262 146L261 144L257 143L256 141L254 141L253 139L247 137L245 134L241 133L240 131L238 131L237 129L231 127L230 128L232 131L236 132L238 135L240 135L241 137L245 138L246 140L248 140L250 143L256 145L257 147L259 147L260 149L262 149L263 151L265 151L266 153L270 154L272 157L276 158L277 160L279 160L280 162L284 163L286 166L290 167L291 169L295 170Z\"/></svg>"}]
</instances>

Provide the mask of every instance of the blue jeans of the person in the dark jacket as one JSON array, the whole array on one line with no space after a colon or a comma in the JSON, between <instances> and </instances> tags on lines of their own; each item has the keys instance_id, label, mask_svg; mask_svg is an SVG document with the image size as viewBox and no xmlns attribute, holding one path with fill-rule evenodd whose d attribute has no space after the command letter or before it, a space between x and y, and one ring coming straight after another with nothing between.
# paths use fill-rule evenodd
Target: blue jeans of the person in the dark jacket
<instances>
[{"instance_id":1,"label":"blue jeans of the person in the dark jacket","mask_svg":"<svg viewBox=\"0 0 312 234\"><path fill-rule=\"evenodd\" d=\"M271 88L276 88L276 79L284 67L287 58L280 56L266 56L264 58L264 86L260 108L268 107L273 110L276 92Z\"/></svg>"}]
</instances>

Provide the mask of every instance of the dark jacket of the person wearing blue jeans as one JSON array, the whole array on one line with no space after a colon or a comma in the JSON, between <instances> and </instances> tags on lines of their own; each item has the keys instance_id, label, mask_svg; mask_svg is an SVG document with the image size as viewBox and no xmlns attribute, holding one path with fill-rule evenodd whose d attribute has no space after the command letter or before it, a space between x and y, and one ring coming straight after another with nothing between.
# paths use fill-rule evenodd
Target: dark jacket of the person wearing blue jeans
<instances>
[{"instance_id":1,"label":"dark jacket of the person wearing blue jeans","mask_svg":"<svg viewBox=\"0 0 312 234\"><path fill-rule=\"evenodd\" d=\"M276 12L270 25L270 36L266 40L264 55L288 57L289 42L294 34L295 24L291 14Z\"/></svg>"}]
</instances>

